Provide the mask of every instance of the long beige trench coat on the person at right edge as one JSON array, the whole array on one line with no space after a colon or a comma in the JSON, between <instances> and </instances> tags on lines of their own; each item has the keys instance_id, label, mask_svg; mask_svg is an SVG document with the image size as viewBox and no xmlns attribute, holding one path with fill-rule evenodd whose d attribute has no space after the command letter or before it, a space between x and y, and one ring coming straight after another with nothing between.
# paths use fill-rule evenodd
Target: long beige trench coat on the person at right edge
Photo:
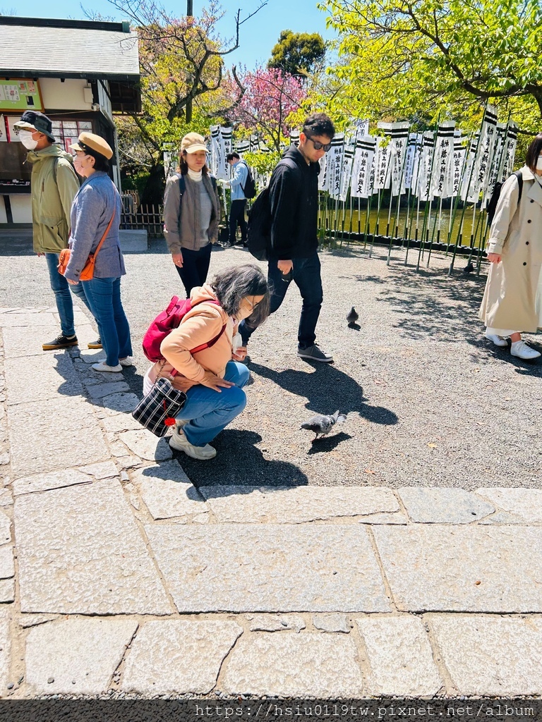
<instances>
[{"instance_id":1,"label":"long beige trench coat on the person at right edge","mask_svg":"<svg viewBox=\"0 0 542 722\"><path fill-rule=\"evenodd\" d=\"M527 166L523 190L515 175L502 186L491 224L488 253L502 254L491 264L479 317L494 329L534 333L538 328L536 290L542 268L542 186Z\"/></svg>"}]
</instances>

